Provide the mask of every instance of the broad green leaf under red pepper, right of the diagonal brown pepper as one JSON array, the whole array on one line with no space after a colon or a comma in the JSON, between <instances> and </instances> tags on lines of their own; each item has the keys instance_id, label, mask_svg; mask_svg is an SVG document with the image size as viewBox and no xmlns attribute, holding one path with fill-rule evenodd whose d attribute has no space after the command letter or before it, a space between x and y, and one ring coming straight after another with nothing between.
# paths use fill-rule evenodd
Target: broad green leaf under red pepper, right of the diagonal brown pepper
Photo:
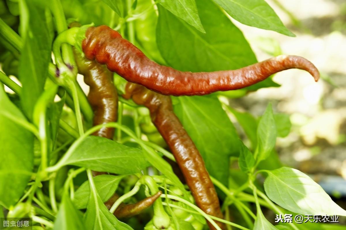
<instances>
[{"instance_id":1,"label":"broad green leaf under red pepper, right of the diagonal brown pepper","mask_svg":"<svg viewBox=\"0 0 346 230\"><path fill-rule=\"evenodd\" d=\"M200 151L208 172L227 184L230 154L238 154L236 130L217 97L178 97L174 112Z\"/></svg>"}]
</instances>

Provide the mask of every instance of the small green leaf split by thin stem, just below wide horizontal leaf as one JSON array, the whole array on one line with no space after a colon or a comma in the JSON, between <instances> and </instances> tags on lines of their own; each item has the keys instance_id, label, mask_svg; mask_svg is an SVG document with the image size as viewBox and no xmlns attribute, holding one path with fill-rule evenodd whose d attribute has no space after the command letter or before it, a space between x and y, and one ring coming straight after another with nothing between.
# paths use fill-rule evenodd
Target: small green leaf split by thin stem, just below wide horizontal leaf
<instances>
[{"instance_id":1,"label":"small green leaf split by thin stem, just below wide horizontal leaf","mask_svg":"<svg viewBox=\"0 0 346 230\"><path fill-rule=\"evenodd\" d=\"M118 188L118 185L122 178L126 175L114 176L114 175L99 175L94 177L95 188L100 196L102 202L106 202L113 196ZM84 209L88 206L90 198L90 183L89 180L85 181L75 192L73 203L76 208Z\"/></svg>"}]
</instances>

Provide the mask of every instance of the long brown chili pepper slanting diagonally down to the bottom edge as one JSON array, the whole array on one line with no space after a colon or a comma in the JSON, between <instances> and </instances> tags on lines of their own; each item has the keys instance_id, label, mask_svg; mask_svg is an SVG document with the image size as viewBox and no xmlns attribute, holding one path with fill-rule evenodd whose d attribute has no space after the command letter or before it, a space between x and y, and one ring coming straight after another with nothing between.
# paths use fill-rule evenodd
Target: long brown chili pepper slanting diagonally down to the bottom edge
<instances>
[{"instance_id":1,"label":"long brown chili pepper slanting diagonally down to the bottom edge","mask_svg":"<svg viewBox=\"0 0 346 230\"><path fill-rule=\"evenodd\" d=\"M124 98L132 98L135 103L149 109L151 119L170 147L197 206L209 215L222 218L219 199L203 158L175 116L171 98L134 83L127 83ZM217 224L225 229L223 223ZM209 222L208 225L215 229Z\"/></svg>"}]
</instances>

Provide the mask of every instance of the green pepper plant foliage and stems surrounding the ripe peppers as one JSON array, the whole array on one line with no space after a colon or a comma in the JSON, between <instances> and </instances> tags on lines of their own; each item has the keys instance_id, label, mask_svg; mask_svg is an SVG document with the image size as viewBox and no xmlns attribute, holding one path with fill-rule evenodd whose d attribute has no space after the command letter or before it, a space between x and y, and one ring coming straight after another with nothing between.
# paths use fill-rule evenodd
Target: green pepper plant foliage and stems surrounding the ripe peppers
<instances>
[{"instance_id":1,"label":"green pepper plant foliage and stems surrounding the ripe peppers","mask_svg":"<svg viewBox=\"0 0 346 230\"><path fill-rule=\"evenodd\" d=\"M122 97L127 82L117 74L117 122L93 126L95 108L77 81L72 49L82 51L75 41L88 27L117 30L159 64L210 72L257 62L230 18L294 37L264 0L0 0L0 221L29 217L33 229L59 230L344 229L274 225L263 214L346 216L310 177L279 161L275 142L290 132L287 115L273 113L271 103L259 118L228 106L227 100L279 87L271 78L234 91L171 97L224 218L198 207L151 111ZM83 26L67 30L71 22ZM113 140L91 135L101 128L114 128ZM149 197L152 207L138 209Z\"/></svg>"}]
</instances>

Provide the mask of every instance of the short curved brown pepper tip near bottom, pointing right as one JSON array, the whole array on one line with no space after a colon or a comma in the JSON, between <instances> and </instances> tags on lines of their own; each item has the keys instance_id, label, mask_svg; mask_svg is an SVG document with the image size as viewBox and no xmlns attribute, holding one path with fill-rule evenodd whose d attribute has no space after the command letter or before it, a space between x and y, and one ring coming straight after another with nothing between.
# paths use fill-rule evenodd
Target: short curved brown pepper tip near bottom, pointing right
<instances>
[{"instance_id":1,"label":"short curved brown pepper tip near bottom, pointing right","mask_svg":"<svg viewBox=\"0 0 346 230\"><path fill-rule=\"evenodd\" d=\"M149 208L153 205L155 200L161 196L162 192L158 191L155 195L151 197L144 198L143 200L138 201L134 204L124 204L121 203L119 207L113 212L114 216L117 218L130 218L133 216L136 216L143 210ZM117 194L114 194L106 203L106 207L110 209L114 202L116 202L119 199L119 196Z\"/></svg>"}]
</instances>

